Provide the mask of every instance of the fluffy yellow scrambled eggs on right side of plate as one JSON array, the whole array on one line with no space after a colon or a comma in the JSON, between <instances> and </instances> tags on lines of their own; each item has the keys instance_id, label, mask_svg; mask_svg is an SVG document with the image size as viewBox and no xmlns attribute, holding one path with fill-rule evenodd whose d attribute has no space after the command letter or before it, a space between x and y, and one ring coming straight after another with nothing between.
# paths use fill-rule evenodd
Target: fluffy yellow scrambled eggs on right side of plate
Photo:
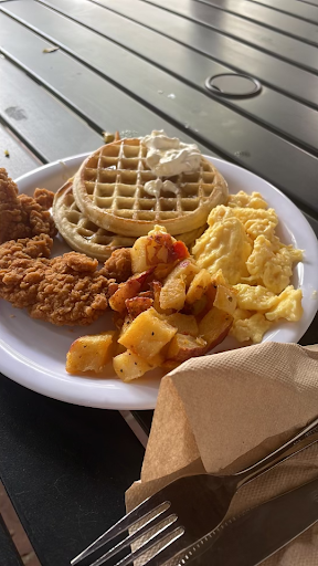
<instances>
[{"instance_id":1,"label":"fluffy yellow scrambled eggs on right side of plate","mask_svg":"<svg viewBox=\"0 0 318 566\"><path fill-rule=\"evenodd\" d=\"M275 321L299 321L301 291L289 283L303 252L275 235L278 218L262 195L230 195L227 206L215 207L208 223L192 254L200 268L236 294L231 334L240 342L258 343Z\"/></svg>"}]
</instances>

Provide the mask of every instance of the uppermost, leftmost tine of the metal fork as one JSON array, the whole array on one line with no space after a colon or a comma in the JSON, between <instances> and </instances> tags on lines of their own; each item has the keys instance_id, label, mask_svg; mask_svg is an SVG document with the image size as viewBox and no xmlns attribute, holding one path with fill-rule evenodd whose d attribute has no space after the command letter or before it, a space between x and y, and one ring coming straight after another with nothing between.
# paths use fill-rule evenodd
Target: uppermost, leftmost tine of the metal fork
<instances>
[{"instance_id":1,"label":"uppermost, leftmost tine of the metal fork","mask_svg":"<svg viewBox=\"0 0 318 566\"><path fill-rule=\"evenodd\" d=\"M82 551L82 553L77 554L77 556L75 556L75 558L73 558L71 560L72 566L75 566L75 564L78 564L78 562L81 562L84 558L86 558L87 556L89 556L92 553L94 553L95 551L100 548L100 546L104 546L104 544L108 543L109 541L113 541L113 538L115 538L116 536L124 533L124 531L127 531L128 528L134 526L136 523L138 523L138 521L141 521L142 518L145 518L150 512L155 512L158 509L158 513L156 515L156 516L158 516L158 514L161 514L163 511L166 511L166 510L163 510L163 511L159 511L159 510L160 510L160 507L162 507L162 505L165 503L168 504L168 502L162 502L162 501L159 502L158 501L159 497L157 495L158 494L156 493L151 497L148 497L147 500L145 500L142 503L140 503L140 505L138 505L138 507L135 507L132 511L127 513L115 525L113 525L110 528L108 528L108 531L103 533L103 535L98 536L98 538L96 538L96 541L94 541L94 543L89 544L89 546L87 546L87 548ZM169 506L170 506L170 503L169 503ZM153 518L156 518L156 517L153 517Z\"/></svg>"}]
</instances>

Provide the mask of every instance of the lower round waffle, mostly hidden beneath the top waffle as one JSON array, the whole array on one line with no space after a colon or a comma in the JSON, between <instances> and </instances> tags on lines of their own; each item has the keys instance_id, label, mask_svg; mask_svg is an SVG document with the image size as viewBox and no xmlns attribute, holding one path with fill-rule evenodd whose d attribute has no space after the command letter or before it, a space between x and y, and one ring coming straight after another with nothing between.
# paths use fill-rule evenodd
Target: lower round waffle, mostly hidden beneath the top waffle
<instances>
[{"instance_id":1,"label":"lower round waffle, mostly hidden beneath the top waffle","mask_svg":"<svg viewBox=\"0 0 318 566\"><path fill-rule=\"evenodd\" d=\"M134 237L118 235L88 220L78 209L73 195L73 179L70 179L55 195L53 218L61 235L77 252L86 253L99 261L106 261L118 248L131 248ZM190 247L205 230L205 226L177 235Z\"/></svg>"}]
</instances>

